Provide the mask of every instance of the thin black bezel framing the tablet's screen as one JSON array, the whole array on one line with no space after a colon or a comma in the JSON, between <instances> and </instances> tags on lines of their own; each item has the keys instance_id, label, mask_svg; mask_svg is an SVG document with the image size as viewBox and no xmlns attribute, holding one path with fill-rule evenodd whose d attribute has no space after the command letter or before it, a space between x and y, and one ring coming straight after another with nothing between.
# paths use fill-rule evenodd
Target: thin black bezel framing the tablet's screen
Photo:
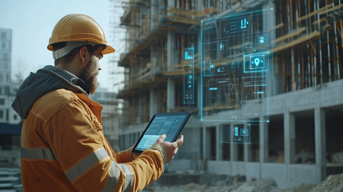
<instances>
[{"instance_id":1,"label":"thin black bezel framing the tablet's screen","mask_svg":"<svg viewBox=\"0 0 343 192\"><path fill-rule=\"evenodd\" d=\"M136 142L136 145L133 147L132 149L132 153L134 154L142 154L143 151L141 150L136 150L136 147L138 145L139 142L141 142L146 130L149 128L150 124L152 123L152 121L155 119L155 117L160 117L160 116L180 116L180 115L186 115L184 121L182 121L181 126L179 128L179 130L177 131L177 134L175 134L176 136L173 138L172 142L175 142L177 140L177 138L179 137L182 129L184 129L189 117L191 116L191 112L190 111L184 111L184 112L171 112L171 113L156 113L152 119L150 120L149 124L146 126L145 130L143 131L142 135L139 137L138 141Z\"/></svg>"}]
</instances>

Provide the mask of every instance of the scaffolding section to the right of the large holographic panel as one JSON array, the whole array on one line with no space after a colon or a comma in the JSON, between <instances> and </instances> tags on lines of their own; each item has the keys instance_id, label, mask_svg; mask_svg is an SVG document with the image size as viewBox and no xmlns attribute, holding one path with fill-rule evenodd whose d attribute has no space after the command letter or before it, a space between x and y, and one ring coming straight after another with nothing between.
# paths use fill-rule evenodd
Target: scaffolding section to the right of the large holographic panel
<instances>
[{"instance_id":1,"label":"scaffolding section to the right of the large holographic panel","mask_svg":"<svg viewBox=\"0 0 343 192\"><path fill-rule=\"evenodd\" d=\"M274 74L282 77L277 93L341 79L342 6L340 0L275 2L280 27L275 29Z\"/></svg>"}]
</instances>

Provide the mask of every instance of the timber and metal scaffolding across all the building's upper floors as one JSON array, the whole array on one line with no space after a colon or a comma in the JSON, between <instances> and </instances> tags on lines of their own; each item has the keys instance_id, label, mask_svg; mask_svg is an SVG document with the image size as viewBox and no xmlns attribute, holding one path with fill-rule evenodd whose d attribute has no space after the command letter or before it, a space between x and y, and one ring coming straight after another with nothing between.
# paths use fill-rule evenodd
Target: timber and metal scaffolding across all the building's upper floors
<instances>
[{"instance_id":1,"label":"timber and metal scaffolding across all the building's upper floors","mask_svg":"<svg viewBox=\"0 0 343 192\"><path fill-rule=\"evenodd\" d=\"M261 10L267 4L272 4L275 13L273 95L318 88L342 78L343 4L340 0L129 0L122 3L124 12L119 25L126 29L126 34L118 64L127 73L118 97L126 100L126 107L130 108L127 116L132 119L134 114L135 119L127 120L127 125L149 121L143 113L150 113L151 107L146 106L151 102L161 106L159 112L170 111L166 107L168 94L173 94L172 111L197 113L200 109L196 104L183 104L180 93L184 65L180 58L184 57L185 48L194 47L194 74L199 74L201 54L197 47L201 20ZM170 78L175 89L167 93Z\"/></svg>"}]
</instances>

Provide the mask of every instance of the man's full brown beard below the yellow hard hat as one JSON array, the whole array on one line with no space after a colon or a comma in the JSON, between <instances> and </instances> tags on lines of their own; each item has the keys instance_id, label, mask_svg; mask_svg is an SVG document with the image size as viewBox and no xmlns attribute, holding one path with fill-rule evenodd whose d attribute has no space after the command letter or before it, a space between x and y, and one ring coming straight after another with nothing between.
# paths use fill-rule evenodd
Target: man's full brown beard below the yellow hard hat
<instances>
[{"instance_id":1,"label":"man's full brown beard below the yellow hard hat","mask_svg":"<svg viewBox=\"0 0 343 192\"><path fill-rule=\"evenodd\" d=\"M96 61L95 56L91 56L91 60L87 63L86 68L81 72L80 79L88 85L90 89L90 94L95 94L96 88L98 87L98 74L99 71L97 70L96 73L93 71L96 70Z\"/></svg>"}]
</instances>

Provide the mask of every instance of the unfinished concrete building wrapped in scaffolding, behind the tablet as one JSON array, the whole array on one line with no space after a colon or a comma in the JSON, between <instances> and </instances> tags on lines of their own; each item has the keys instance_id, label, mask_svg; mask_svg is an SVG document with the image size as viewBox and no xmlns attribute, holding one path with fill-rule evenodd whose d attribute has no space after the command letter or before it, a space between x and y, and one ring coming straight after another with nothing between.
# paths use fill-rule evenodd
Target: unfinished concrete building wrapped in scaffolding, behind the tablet
<instances>
[{"instance_id":1,"label":"unfinished concrete building wrapped in scaffolding, behind the tablet","mask_svg":"<svg viewBox=\"0 0 343 192\"><path fill-rule=\"evenodd\" d=\"M120 26L126 44L120 149L131 147L155 113L191 111L184 144L167 171L193 169L280 187L318 184L343 172L343 2L340 0L129 0ZM230 121L201 121L201 21L273 9L269 122L259 141L221 142ZM194 48L194 104L184 104L184 49Z\"/></svg>"}]
</instances>

